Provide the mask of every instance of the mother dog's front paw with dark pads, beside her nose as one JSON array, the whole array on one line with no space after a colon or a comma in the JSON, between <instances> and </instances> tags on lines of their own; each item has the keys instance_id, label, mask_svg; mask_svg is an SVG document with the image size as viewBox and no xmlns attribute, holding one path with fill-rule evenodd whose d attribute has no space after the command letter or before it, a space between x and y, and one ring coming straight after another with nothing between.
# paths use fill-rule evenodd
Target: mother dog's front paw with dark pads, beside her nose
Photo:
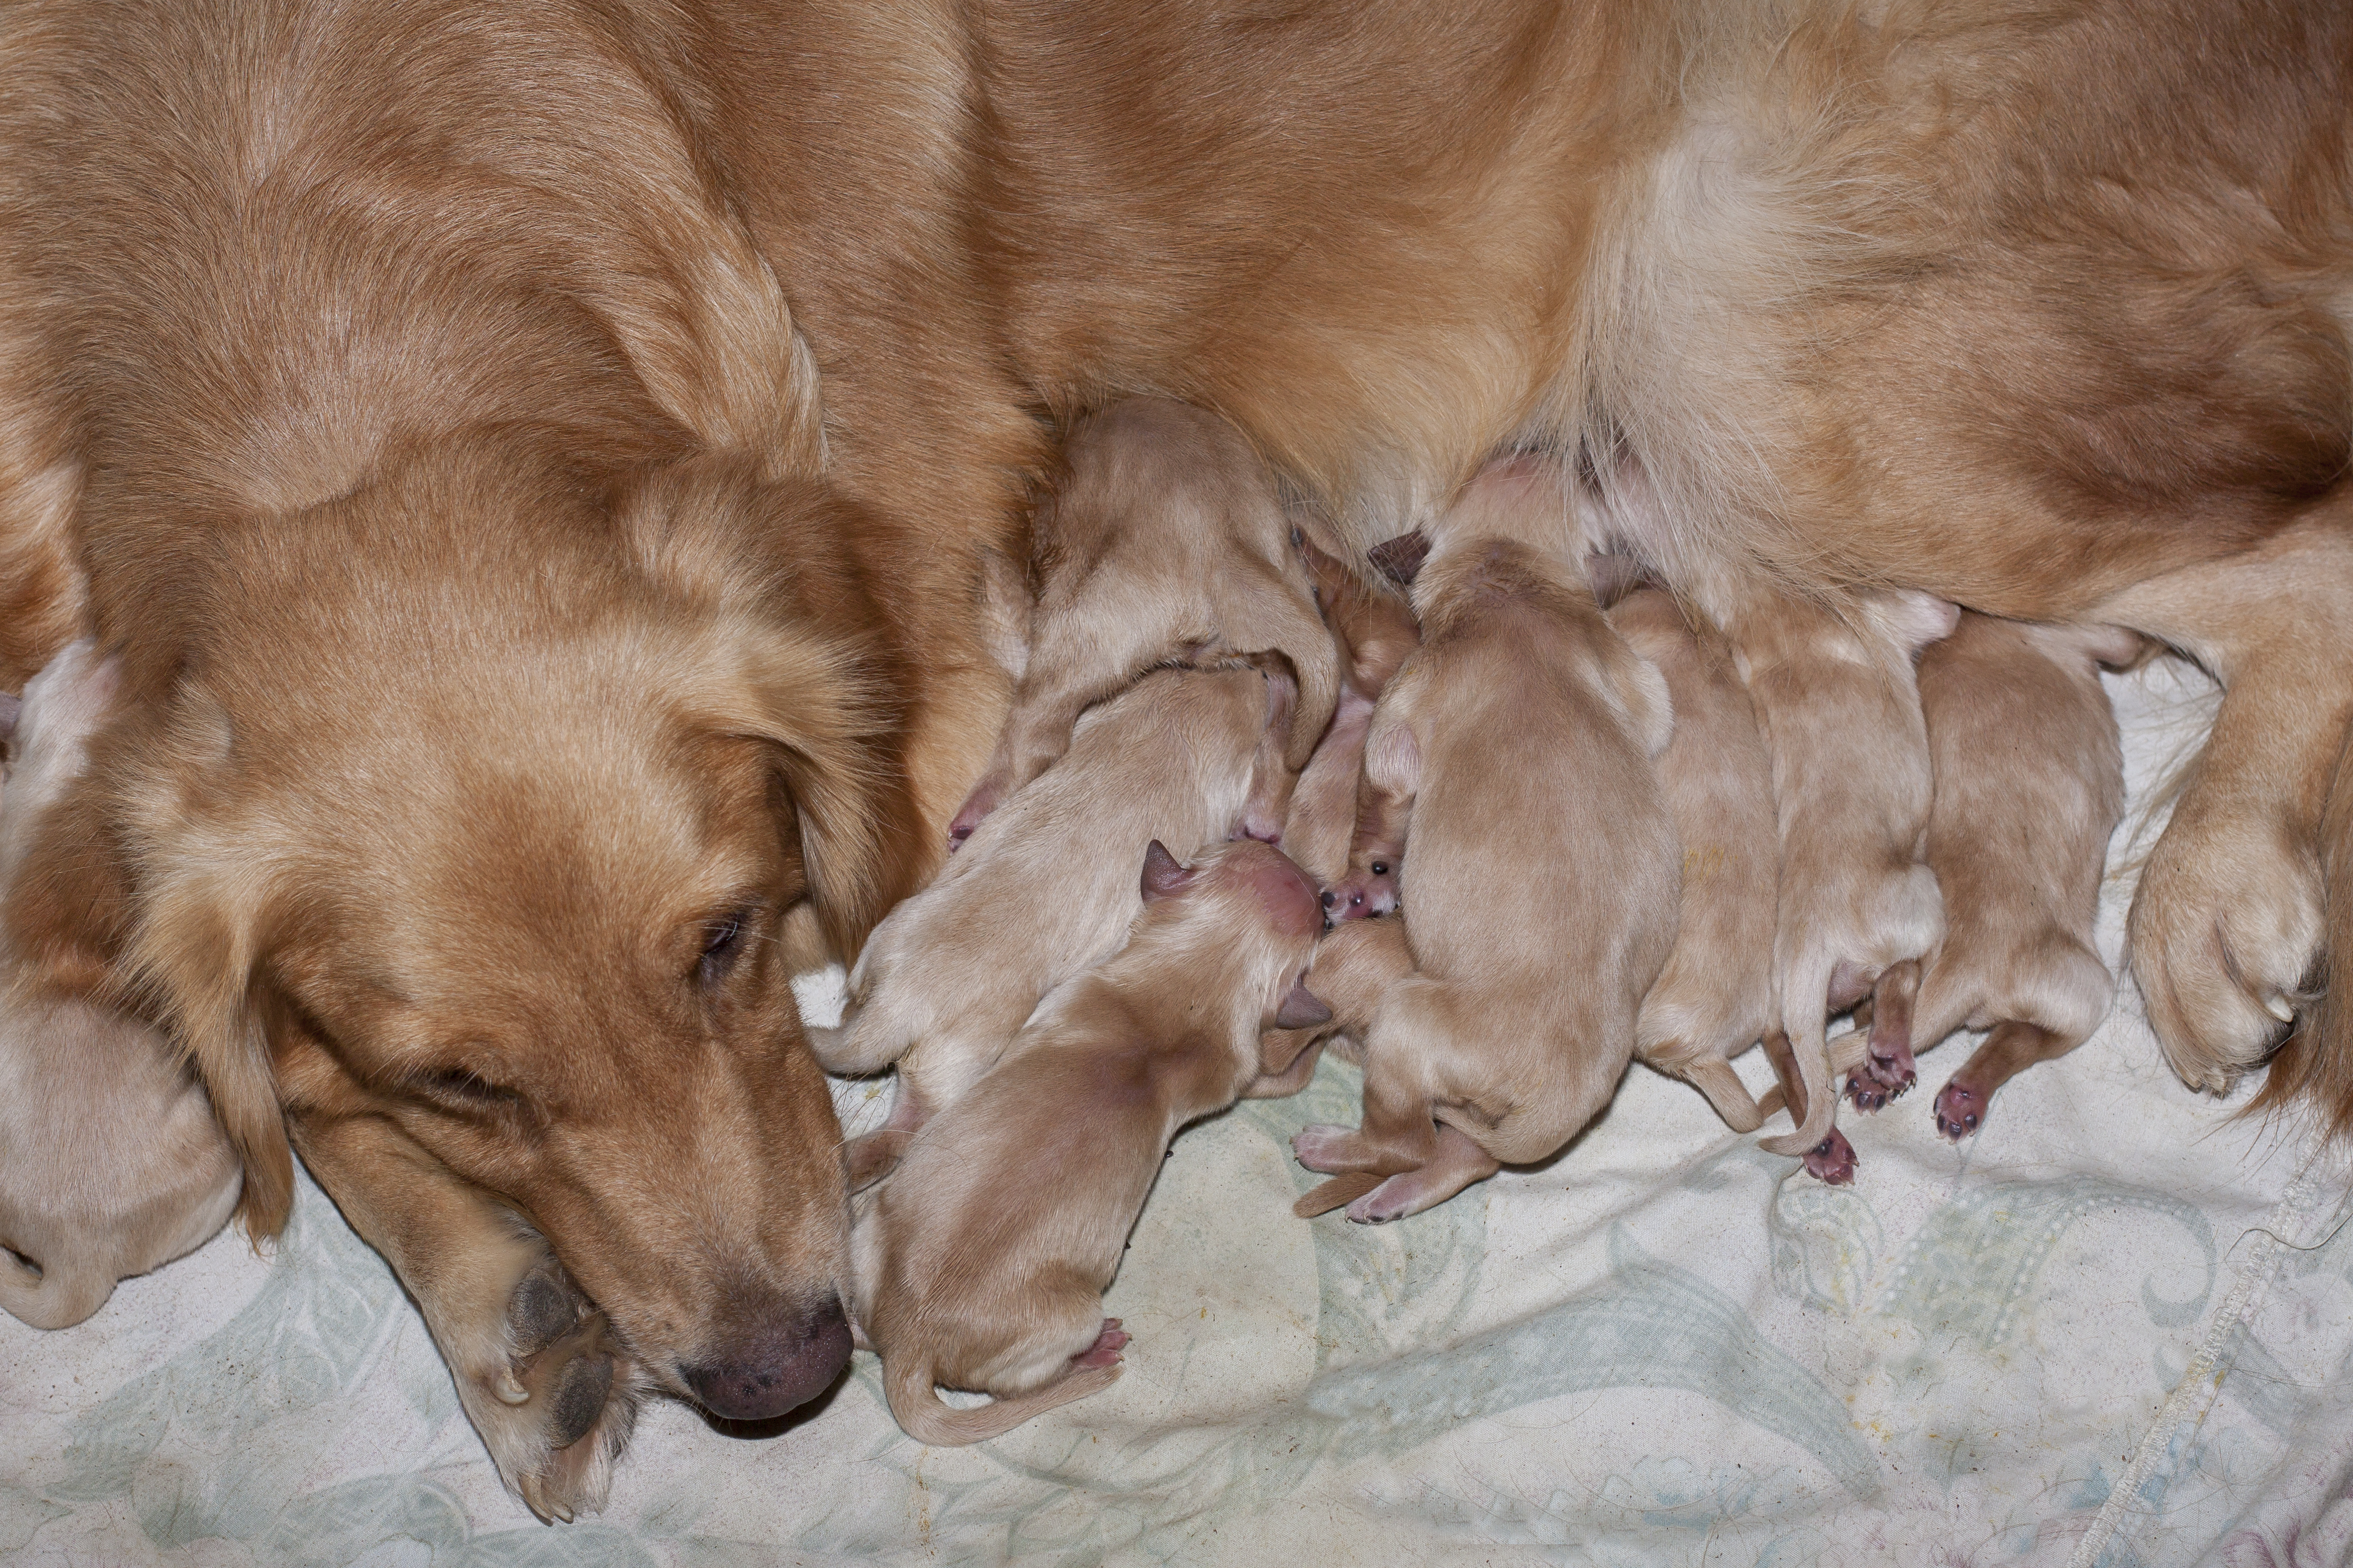
<instances>
[{"instance_id":1,"label":"mother dog's front paw with dark pads, beside her nose","mask_svg":"<svg viewBox=\"0 0 2353 1568\"><path fill-rule=\"evenodd\" d=\"M647 1378L544 1246L518 1241L508 1265L482 1269L478 1300L496 1309L435 1338L499 1479L539 1519L572 1521L605 1507Z\"/></svg>"}]
</instances>

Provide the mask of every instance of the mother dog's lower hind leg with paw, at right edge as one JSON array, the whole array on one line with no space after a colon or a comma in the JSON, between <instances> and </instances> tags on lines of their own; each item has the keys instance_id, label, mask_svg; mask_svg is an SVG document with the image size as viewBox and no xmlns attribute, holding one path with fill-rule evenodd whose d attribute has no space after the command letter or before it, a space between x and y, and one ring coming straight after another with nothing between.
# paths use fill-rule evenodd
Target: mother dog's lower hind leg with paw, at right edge
<instances>
[{"instance_id":1,"label":"mother dog's lower hind leg with paw, at right edge","mask_svg":"<svg viewBox=\"0 0 2353 1568\"><path fill-rule=\"evenodd\" d=\"M2132 973L2174 1072L2221 1093L2287 1034L2353 865L2322 891L2322 825L2353 717L2353 484L2261 545L2127 588L2085 618L2129 625L2224 684L2214 733L2132 898ZM2353 1126L2353 1016L2325 1009L2266 1084Z\"/></svg>"}]
</instances>

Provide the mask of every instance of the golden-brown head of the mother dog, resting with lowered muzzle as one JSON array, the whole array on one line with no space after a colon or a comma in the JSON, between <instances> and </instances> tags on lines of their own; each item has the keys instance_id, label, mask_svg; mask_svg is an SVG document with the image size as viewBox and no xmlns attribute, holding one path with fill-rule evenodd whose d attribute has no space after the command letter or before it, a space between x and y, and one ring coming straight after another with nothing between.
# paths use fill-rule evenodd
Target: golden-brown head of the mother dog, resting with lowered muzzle
<instances>
[{"instance_id":1,"label":"golden-brown head of the mother dog, resting with lowered muzzle","mask_svg":"<svg viewBox=\"0 0 2353 1568\"><path fill-rule=\"evenodd\" d=\"M781 1413L847 1356L840 1128L788 978L920 872L861 527L720 458L605 491L440 454L231 531L209 625L94 750L115 929L54 896L12 924L59 969L113 947L254 1234L289 1204L282 1110L391 1119L675 1392Z\"/></svg>"}]
</instances>

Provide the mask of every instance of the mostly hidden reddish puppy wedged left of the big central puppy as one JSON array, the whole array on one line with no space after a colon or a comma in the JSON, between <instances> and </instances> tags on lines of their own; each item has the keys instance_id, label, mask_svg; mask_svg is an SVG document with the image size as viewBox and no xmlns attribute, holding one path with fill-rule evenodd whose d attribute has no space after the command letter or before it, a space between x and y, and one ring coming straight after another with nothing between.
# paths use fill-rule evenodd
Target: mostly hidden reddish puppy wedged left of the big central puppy
<instances>
[{"instance_id":1,"label":"mostly hidden reddish puppy wedged left of the big central puppy","mask_svg":"<svg viewBox=\"0 0 2353 1568\"><path fill-rule=\"evenodd\" d=\"M1414 614L1395 597L1374 592L1332 555L1301 536L1299 552L1315 578L1315 604L1339 639L1341 682L1332 729L1315 743L1292 811L1282 820L1282 851L1315 879L1332 886L1348 870L1355 837L1355 780L1365 766L1372 708L1381 701L1405 656L1421 644Z\"/></svg>"}]
</instances>

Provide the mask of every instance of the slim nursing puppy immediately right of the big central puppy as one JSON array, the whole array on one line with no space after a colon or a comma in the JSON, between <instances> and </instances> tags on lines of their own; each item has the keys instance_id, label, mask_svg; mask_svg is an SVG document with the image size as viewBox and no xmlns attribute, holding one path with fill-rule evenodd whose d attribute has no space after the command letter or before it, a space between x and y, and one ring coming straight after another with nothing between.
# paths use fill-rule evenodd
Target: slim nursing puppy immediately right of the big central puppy
<instances>
[{"instance_id":1,"label":"slim nursing puppy immediately right of the big central puppy","mask_svg":"<svg viewBox=\"0 0 2353 1568\"><path fill-rule=\"evenodd\" d=\"M1682 905L1675 950L1642 999L1633 1051L1694 1084L1734 1133L1753 1133L1765 1112L1732 1058L1774 1027L1781 832L1772 757L1732 646L1713 630L1694 632L1671 595L1631 592L1609 611L1609 625L1659 665L1675 703L1659 785L1682 839Z\"/></svg>"}]
</instances>

